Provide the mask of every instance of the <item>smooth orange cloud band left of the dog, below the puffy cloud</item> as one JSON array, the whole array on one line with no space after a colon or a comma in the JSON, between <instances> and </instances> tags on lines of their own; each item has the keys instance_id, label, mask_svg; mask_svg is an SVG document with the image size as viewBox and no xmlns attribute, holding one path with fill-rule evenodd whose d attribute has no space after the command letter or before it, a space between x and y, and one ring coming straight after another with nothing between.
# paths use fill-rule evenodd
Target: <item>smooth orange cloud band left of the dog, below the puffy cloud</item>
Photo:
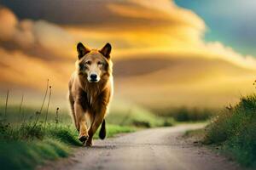
<instances>
[{"instance_id":1,"label":"smooth orange cloud band left of the dog, below the puffy cloud","mask_svg":"<svg viewBox=\"0 0 256 170\"><path fill-rule=\"evenodd\" d=\"M67 75L73 71L73 64L69 62L62 61L60 65L55 61L33 58L20 51L8 52L0 48L0 55L0 80L10 87L18 86L20 89L31 88L41 91L44 89L44 82L49 79L55 91L60 93L67 88Z\"/></svg>"}]
</instances>

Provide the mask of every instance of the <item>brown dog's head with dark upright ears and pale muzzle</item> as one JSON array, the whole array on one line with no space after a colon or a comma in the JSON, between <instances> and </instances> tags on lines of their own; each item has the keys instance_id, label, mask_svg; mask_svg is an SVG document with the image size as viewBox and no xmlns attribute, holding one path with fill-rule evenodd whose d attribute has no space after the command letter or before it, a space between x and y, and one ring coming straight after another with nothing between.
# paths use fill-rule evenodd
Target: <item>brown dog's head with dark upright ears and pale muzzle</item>
<instances>
[{"instance_id":1,"label":"brown dog's head with dark upright ears and pale muzzle","mask_svg":"<svg viewBox=\"0 0 256 170\"><path fill-rule=\"evenodd\" d=\"M111 45L107 43L102 49L89 49L83 43L77 45L79 60L77 61L79 74L87 76L88 82L100 82L102 78L111 74L110 60Z\"/></svg>"}]
</instances>

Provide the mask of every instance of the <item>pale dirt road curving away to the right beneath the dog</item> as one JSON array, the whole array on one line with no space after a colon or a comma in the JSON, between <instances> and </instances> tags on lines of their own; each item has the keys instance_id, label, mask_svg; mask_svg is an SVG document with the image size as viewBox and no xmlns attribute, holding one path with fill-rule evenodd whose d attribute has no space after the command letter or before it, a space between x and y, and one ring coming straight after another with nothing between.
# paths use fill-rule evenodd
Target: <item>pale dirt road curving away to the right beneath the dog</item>
<instances>
[{"instance_id":1,"label":"pale dirt road curving away to the right beneath the dog","mask_svg":"<svg viewBox=\"0 0 256 170\"><path fill-rule=\"evenodd\" d=\"M153 128L114 139L97 140L92 148L81 148L74 156L51 162L40 169L240 169L236 163L181 137L186 130L200 127L203 124Z\"/></svg>"}]
</instances>

